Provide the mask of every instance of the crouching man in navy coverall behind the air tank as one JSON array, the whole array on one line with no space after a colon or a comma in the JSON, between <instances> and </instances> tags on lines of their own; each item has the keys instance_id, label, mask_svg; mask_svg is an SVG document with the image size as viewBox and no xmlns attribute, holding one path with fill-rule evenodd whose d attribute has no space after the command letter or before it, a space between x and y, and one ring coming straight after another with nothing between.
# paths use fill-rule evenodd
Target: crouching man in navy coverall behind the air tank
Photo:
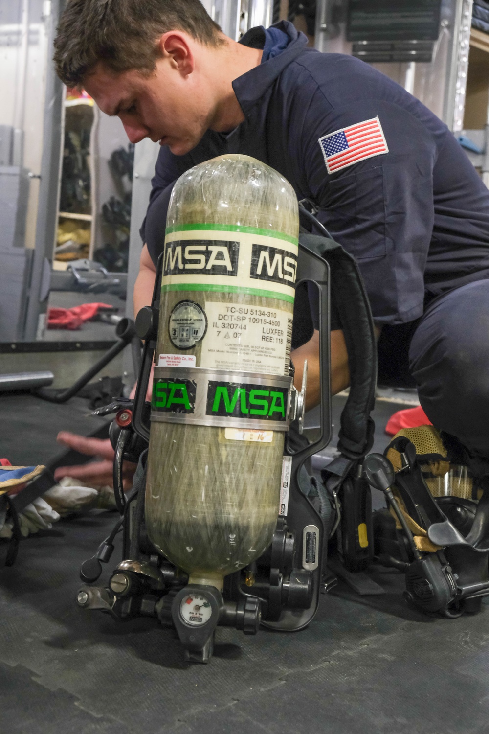
<instances>
[{"instance_id":1,"label":"crouching man in navy coverall behind the air tank","mask_svg":"<svg viewBox=\"0 0 489 734\"><path fill-rule=\"evenodd\" d=\"M55 46L66 84L118 115L131 142L162 146L136 312L150 300L174 181L222 153L254 156L356 257L383 328L381 368L409 371L433 424L489 471L489 192L435 115L363 62L306 48L290 23L235 43L197 0L72 0ZM293 355L298 379L305 358L312 366L309 405L317 346L315 331ZM337 392L349 381L337 319L331 354Z\"/></svg>"}]
</instances>

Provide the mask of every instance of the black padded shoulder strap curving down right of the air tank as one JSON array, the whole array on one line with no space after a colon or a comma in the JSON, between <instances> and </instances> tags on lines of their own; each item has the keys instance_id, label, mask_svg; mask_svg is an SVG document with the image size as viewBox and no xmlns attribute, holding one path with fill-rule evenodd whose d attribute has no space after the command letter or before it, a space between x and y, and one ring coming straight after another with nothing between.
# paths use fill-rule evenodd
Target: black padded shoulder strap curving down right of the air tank
<instances>
[{"instance_id":1,"label":"black padded shoulder strap curving down right of the air tank","mask_svg":"<svg viewBox=\"0 0 489 734\"><path fill-rule=\"evenodd\" d=\"M341 416L338 450L353 461L372 448L377 347L372 312L355 259L332 239L300 234L304 247L326 260L331 270L331 299L337 308L350 367L350 395Z\"/></svg>"}]
</instances>

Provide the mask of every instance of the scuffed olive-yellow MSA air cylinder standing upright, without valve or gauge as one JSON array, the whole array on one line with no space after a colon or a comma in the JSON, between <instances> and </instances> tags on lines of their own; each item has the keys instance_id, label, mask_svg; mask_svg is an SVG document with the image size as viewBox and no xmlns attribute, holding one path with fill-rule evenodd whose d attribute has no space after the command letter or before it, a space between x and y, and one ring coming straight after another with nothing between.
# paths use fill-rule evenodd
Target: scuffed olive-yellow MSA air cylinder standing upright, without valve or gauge
<instances>
[{"instance_id":1,"label":"scuffed olive-yellow MSA air cylinder standing upright, without valve or gauge","mask_svg":"<svg viewBox=\"0 0 489 734\"><path fill-rule=\"evenodd\" d=\"M248 156L199 164L169 203L147 533L192 584L268 547L288 426L298 203Z\"/></svg>"}]
</instances>

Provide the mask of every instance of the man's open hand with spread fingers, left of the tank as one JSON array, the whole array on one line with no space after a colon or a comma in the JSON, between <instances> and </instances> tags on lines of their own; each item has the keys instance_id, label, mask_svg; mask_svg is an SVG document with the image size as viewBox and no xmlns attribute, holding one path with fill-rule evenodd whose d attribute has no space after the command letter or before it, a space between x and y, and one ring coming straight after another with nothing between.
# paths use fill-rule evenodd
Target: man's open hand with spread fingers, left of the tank
<instances>
[{"instance_id":1,"label":"man's open hand with spread fingers, left of the tank","mask_svg":"<svg viewBox=\"0 0 489 734\"><path fill-rule=\"evenodd\" d=\"M63 446L79 451L80 454L87 454L89 457L100 457L102 460L78 466L60 466L54 472L54 479L59 482L59 479L62 479L63 476L73 476L74 479L81 479L88 487L105 487L106 484L112 486L114 449L108 438L87 438L78 436L76 433L60 431L56 440L58 443L62 443ZM124 462L122 484L125 490L132 486L135 471L136 464Z\"/></svg>"}]
</instances>

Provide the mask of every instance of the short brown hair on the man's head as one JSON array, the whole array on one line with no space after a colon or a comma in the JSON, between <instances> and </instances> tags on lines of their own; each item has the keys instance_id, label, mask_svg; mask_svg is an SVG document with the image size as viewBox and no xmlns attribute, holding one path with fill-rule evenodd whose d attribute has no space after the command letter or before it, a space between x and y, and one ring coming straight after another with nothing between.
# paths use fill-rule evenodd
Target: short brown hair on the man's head
<instances>
[{"instance_id":1,"label":"short brown hair on the man's head","mask_svg":"<svg viewBox=\"0 0 489 734\"><path fill-rule=\"evenodd\" d=\"M56 73L68 87L83 84L98 62L116 73L150 73L158 38L179 30L221 46L221 29L199 0L68 0L56 39Z\"/></svg>"}]
</instances>

